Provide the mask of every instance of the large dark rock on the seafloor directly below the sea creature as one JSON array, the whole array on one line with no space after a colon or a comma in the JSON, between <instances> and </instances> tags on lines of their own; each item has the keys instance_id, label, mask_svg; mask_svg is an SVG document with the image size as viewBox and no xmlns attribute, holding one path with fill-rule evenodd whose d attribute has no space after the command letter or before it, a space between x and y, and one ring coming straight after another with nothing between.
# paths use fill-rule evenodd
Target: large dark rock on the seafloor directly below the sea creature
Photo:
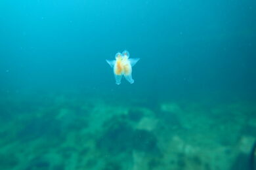
<instances>
[{"instance_id":1,"label":"large dark rock on the seafloor directly below the sea creature","mask_svg":"<svg viewBox=\"0 0 256 170\"><path fill-rule=\"evenodd\" d=\"M108 127L98 139L97 147L109 154L131 153L132 150L142 152L158 152L157 139L150 131L134 129L126 122L116 122Z\"/></svg>"}]
</instances>

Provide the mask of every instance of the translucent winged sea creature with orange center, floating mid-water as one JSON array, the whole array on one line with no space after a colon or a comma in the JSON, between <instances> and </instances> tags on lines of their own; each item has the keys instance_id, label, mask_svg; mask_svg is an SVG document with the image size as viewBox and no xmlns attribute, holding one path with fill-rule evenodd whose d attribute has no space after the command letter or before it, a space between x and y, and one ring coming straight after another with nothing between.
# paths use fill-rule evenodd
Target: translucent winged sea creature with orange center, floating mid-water
<instances>
[{"instance_id":1,"label":"translucent winged sea creature with orange center, floating mid-water","mask_svg":"<svg viewBox=\"0 0 256 170\"><path fill-rule=\"evenodd\" d=\"M117 52L116 60L106 59L106 61L114 69L116 84L121 84L122 76L125 76L125 79L133 84L132 67L139 61L139 58L129 58L129 52L123 51L122 54Z\"/></svg>"}]
</instances>

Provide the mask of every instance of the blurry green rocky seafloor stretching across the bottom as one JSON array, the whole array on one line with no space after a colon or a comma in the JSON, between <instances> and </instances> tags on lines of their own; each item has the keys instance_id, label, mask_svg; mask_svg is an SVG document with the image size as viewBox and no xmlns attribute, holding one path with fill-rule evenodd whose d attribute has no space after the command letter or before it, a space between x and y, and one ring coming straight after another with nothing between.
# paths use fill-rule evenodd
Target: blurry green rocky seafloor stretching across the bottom
<instances>
[{"instance_id":1,"label":"blurry green rocky seafloor stretching across the bottom","mask_svg":"<svg viewBox=\"0 0 256 170\"><path fill-rule=\"evenodd\" d=\"M1 99L0 169L249 169L253 102L141 103Z\"/></svg>"}]
</instances>

